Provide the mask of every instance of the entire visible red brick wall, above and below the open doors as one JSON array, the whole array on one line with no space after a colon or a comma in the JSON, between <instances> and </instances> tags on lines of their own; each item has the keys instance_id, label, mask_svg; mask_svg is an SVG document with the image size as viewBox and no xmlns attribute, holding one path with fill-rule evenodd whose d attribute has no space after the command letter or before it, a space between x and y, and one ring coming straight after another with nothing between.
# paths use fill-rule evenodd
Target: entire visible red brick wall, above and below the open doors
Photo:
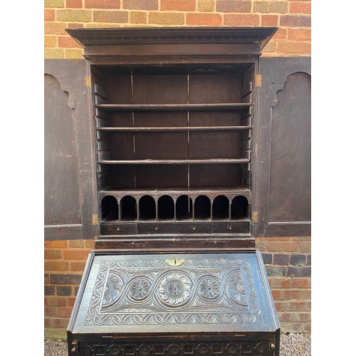
<instances>
[{"instance_id":1,"label":"entire visible red brick wall, above and below the open doors","mask_svg":"<svg viewBox=\"0 0 356 356\"><path fill-rule=\"evenodd\" d=\"M310 56L310 1L45 0L45 58L83 58L68 27L278 26L263 56ZM65 337L94 241L46 241L45 331ZM310 237L257 239L285 331L310 331Z\"/></svg>"}]
</instances>

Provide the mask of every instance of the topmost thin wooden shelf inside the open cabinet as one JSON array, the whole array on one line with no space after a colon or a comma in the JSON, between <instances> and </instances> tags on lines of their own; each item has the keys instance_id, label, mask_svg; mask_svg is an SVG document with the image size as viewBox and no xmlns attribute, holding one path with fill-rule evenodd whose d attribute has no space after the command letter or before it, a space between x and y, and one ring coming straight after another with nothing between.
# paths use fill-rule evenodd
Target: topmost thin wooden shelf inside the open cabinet
<instances>
[{"instance_id":1,"label":"topmost thin wooden shelf inside the open cabinet","mask_svg":"<svg viewBox=\"0 0 356 356\"><path fill-rule=\"evenodd\" d=\"M252 103L218 103L218 104L96 104L95 108L108 111L226 111L243 110Z\"/></svg>"}]
</instances>

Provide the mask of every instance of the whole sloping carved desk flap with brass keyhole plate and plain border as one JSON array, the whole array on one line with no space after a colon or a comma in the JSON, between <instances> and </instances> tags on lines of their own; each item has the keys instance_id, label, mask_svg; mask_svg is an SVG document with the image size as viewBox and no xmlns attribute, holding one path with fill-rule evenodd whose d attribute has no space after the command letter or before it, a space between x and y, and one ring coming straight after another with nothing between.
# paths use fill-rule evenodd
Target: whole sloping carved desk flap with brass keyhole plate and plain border
<instances>
[{"instance_id":1,"label":"whole sloping carved desk flap with brass keyhole plate and plain border","mask_svg":"<svg viewBox=\"0 0 356 356\"><path fill-rule=\"evenodd\" d=\"M93 251L72 333L273 332L279 328L258 251ZM72 317L73 318L73 317Z\"/></svg>"}]
</instances>

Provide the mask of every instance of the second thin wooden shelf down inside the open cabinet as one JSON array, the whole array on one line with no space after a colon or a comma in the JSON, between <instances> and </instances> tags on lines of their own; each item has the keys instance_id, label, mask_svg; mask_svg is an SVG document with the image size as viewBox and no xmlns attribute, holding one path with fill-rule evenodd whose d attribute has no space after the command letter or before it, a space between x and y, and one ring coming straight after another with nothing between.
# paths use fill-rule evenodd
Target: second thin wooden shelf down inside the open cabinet
<instances>
[{"instance_id":1,"label":"second thin wooden shelf down inside the open cabinet","mask_svg":"<svg viewBox=\"0 0 356 356\"><path fill-rule=\"evenodd\" d=\"M241 131L252 126L194 126L194 127L97 127L104 132L190 132L190 131Z\"/></svg>"}]
</instances>

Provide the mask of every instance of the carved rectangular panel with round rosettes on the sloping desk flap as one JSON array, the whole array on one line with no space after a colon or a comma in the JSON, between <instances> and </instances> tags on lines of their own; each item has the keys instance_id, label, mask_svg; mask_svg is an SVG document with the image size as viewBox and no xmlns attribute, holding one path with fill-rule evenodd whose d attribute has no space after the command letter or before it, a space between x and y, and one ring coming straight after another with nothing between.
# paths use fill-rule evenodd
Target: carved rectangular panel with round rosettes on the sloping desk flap
<instances>
[{"instance_id":1,"label":"carved rectangular panel with round rosettes on the sloping desk flap","mask_svg":"<svg viewBox=\"0 0 356 356\"><path fill-rule=\"evenodd\" d=\"M85 325L263 323L247 258L105 260Z\"/></svg>"}]
</instances>

